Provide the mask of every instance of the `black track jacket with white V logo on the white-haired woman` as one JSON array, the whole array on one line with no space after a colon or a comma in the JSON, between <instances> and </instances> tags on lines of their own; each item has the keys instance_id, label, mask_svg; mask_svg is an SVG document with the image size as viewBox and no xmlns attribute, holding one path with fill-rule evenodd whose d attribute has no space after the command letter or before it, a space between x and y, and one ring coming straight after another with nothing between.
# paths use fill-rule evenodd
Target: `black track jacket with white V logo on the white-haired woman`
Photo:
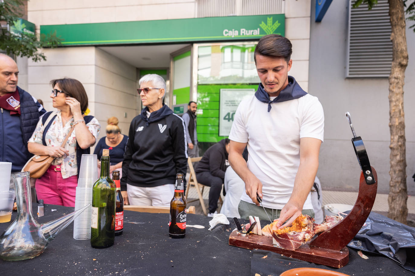
<instances>
[{"instance_id":1,"label":"black track jacket with white V logo on the white-haired woman","mask_svg":"<svg viewBox=\"0 0 415 276\"><path fill-rule=\"evenodd\" d=\"M147 118L144 108L134 117L122 161L121 190L127 183L156 187L176 182L176 173L186 177L187 142L184 121L163 105ZM186 185L186 180L185 180Z\"/></svg>"}]
</instances>

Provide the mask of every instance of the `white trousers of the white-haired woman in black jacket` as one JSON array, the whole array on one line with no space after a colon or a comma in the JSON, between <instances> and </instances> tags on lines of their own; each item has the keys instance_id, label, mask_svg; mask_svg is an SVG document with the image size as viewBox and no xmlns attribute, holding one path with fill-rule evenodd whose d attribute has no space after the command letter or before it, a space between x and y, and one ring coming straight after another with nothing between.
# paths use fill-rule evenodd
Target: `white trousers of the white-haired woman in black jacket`
<instances>
[{"instance_id":1,"label":"white trousers of the white-haired woman in black jacket","mask_svg":"<svg viewBox=\"0 0 415 276\"><path fill-rule=\"evenodd\" d=\"M137 187L127 183L128 201L131 205L170 207L174 184L156 187Z\"/></svg>"}]
</instances>

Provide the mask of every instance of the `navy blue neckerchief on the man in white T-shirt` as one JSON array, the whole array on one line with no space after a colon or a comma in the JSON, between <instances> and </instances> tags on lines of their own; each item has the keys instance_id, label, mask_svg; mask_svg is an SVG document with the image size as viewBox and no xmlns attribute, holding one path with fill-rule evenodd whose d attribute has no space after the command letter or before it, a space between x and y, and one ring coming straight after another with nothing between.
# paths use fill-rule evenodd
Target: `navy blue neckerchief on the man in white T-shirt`
<instances>
[{"instance_id":1,"label":"navy blue neckerchief on the man in white T-shirt","mask_svg":"<svg viewBox=\"0 0 415 276\"><path fill-rule=\"evenodd\" d=\"M263 102L268 103L268 112L271 110L271 103L279 103L283 101L289 101L293 99L301 98L302 96L305 96L307 92L305 92L300 85L295 81L295 79L291 76L288 76L288 85L286 88L281 90L278 97L273 99L273 101L270 101L269 94L266 93L264 86L260 83L258 86L258 90L255 92L255 97Z\"/></svg>"}]
</instances>

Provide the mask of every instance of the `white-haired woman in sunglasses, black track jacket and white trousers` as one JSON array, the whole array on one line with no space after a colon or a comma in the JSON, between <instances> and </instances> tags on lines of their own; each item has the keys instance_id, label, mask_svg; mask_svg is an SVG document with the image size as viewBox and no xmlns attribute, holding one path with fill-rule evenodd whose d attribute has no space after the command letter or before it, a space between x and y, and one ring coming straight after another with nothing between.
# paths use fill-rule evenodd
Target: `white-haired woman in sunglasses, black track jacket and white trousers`
<instances>
[{"instance_id":1,"label":"white-haired woman in sunglasses, black track jacket and white trousers","mask_svg":"<svg viewBox=\"0 0 415 276\"><path fill-rule=\"evenodd\" d=\"M163 103L166 82L162 77L147 74L139 85L137 90L145 108L129 128L121 194L127 204L170 206L176 173L186 175L185 125Z\"/></svg>"}]
</instances>

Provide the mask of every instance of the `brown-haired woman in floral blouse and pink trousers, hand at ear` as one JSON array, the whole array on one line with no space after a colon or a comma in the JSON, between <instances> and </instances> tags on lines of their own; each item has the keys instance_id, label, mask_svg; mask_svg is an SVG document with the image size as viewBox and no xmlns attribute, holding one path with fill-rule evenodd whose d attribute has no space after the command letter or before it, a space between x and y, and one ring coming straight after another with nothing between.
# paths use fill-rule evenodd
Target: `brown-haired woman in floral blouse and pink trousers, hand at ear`
<instances>
[{"instance_id":1,"label":"brown-haired woman in floral blouse and pink trousers, hand at ear","mask_svg":"<svg viewBox=\"0 0 415 276\"><path fill-rule=\"evenodd\" d=\"M50 97L58 112L45 113L27 143L32 154L55 157L46 173L36 180L36 193L46 204L74 207L81 156L90 153L101 126L95 117L84 115L88 96L81 82L64 78L52 80L51 85ZM43 127L49 116L53 117ZM72 128L65 146L61 146Z\"/></svg>"}]
</instances>

